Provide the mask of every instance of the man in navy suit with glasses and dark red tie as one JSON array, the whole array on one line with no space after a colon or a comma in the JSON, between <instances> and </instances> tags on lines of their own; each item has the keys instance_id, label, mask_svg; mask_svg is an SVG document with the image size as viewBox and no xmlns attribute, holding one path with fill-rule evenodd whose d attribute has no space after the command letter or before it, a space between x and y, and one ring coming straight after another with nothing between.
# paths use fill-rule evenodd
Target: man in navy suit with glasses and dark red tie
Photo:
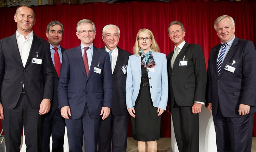
<instances>
[{"instance_id":1,"label":"man in navy suit with glasses and dark red tie","mask_svg":"<svg viewBox=\"0 0 256 152\"><path fill-rule=\"evenodd\" d=\"M61 115L67 126L69 151L97 152L101 119L110 114L112 74L109 54L93 46L95 25L88 19L77 23L81 44L64 51L58 86Z\"/></svg>"}]
</instances>

